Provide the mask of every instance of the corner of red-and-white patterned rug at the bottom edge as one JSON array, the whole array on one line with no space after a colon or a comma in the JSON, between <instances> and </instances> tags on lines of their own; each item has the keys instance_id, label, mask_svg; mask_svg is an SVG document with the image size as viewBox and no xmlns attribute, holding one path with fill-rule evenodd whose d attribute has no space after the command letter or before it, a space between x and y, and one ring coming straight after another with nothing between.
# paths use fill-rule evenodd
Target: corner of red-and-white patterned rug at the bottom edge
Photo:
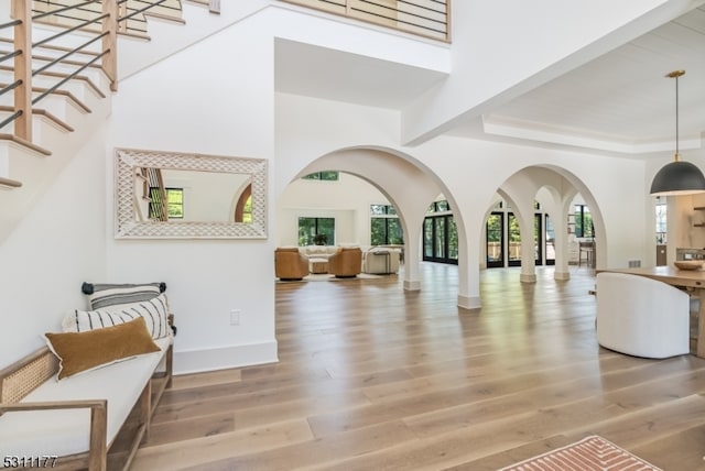
<instances>
[{"instance_id":1,"label":"corner of red-and-white patterned rug at the bottom edge","mask_svg":"<svg viewBox=\"0 0 705 471\"><path fill-rule=\"evenodd\" d=\"M499 471L662 471L596 435Z\"/></svg>"}]
</instances>

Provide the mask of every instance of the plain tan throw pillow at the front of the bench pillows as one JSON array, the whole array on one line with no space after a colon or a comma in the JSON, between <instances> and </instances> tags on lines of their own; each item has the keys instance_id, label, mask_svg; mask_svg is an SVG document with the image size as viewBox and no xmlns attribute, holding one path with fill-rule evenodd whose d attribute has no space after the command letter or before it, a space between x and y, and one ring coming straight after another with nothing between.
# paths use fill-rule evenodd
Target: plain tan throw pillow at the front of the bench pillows
<instances>
[{"instance_id":1,"label":"plain tan throw pillow at the front of the bench pillows","mask_svg":"<svg viewBox=\"0 0 705 471\"><path fill-rule=\"evenodd\" d=\"M144 353L160 351L144 318L85 332L44 335L59 360L58 380Z\"/></svg>"}]
</instances>

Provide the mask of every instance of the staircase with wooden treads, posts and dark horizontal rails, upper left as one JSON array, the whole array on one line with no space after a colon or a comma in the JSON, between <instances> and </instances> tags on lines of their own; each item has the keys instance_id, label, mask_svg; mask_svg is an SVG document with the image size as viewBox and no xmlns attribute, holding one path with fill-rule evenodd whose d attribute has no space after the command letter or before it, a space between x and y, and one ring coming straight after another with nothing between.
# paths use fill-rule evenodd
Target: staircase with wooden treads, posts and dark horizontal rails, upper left
<instances>
[{"instance_id":1,"label":"staircase with wooden treads, posts and dark horizontal rails, upper left","mask_svg":"<svg viewBox=\"0 0 705 471\"><path fill-rule=\"evenodd\" d=\"M182 1L0 0L0 243L104 125L118 36L150 19L183 25Z\"/></svg>"}]
</instances>

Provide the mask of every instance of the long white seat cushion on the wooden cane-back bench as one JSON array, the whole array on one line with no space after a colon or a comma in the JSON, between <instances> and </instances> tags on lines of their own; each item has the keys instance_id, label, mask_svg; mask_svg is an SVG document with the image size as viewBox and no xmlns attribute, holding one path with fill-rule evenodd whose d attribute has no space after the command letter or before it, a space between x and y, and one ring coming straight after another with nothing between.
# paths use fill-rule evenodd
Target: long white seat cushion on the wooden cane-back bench
<instances>
[{"instance_id":1,"label":"long white seat cushion on the wooden cane-back bench","mask_svg":"<svg viewBox=\"0 0 705 471\"><path fill-rule=\"evenodd\" d=\"M51 379L22 403L107 399L110 446L172 341L155 340L160 351L113 363L66 380ZM67 456L88 451L90 410L10 412L0 416L0 456Z\"/></svg>"}]
</instances>

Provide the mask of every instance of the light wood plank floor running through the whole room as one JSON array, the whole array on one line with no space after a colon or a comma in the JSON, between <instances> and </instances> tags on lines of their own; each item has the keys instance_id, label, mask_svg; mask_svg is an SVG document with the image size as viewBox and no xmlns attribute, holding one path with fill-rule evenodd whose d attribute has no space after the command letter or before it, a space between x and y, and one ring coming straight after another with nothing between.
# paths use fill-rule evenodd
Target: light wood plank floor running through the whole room
<instances>
[{"instance_id":1,"label":"light wood plank floor running through the whole room","mask_svg":"<svg viewBox=\"0 0 705 471\"><path fill-rule=\"evenodd\" d=\"M276 364L180 376L133 470L496 470L598 434L666 471L705 470L705 360L595 340L595 280L457 267L276 284Z\"/></svg>"}]
</instances>

